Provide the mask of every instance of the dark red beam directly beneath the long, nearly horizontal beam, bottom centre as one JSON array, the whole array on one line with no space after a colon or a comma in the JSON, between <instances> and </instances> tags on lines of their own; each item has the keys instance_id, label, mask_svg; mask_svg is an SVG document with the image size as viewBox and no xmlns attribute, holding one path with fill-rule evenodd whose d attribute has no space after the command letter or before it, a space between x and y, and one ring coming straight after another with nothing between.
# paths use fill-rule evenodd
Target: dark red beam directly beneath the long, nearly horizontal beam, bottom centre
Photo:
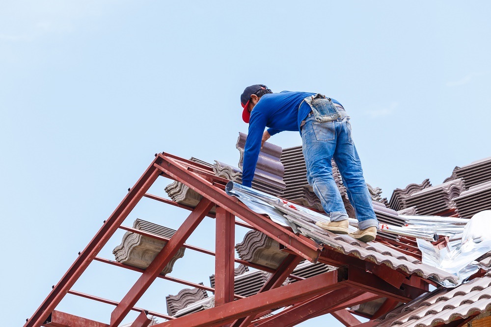
<instances>
[{"instance_id":1,"label":"dark red beam directly beneath the long, nearly horizontal beam, bottom centre","mask_svg":"<svg viewBox=\"0 0 491 327\"><path fill-rule=\"evenodd\" d=\"M333 308L347 300L351 300L363 292L351 287L343 287L329 293L319 295L315 298L305 300L298 305L283 310L272 317L265 318L254 323L255 327L289 327L295 326L310 318L318 316L319 312L324 314L334 311Z\"/></svg>"}]
</instances>

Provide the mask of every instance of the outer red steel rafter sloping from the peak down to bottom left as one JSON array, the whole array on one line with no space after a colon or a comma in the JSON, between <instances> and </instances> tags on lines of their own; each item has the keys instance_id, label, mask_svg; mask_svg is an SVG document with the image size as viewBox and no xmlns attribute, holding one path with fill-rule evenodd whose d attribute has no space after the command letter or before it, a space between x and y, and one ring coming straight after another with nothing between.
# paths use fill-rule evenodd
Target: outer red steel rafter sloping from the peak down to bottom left
<instances>
[{"instance_id":1,"label":"outer red steel rafter sloping from the peak down to bottom left","mask_svg":"<svg viewBox=\"0 0 491 327\"><path fill-rule=\"evenodd\" d=\"M159 164L162 158L157 157L150 164L147 170L143 173L140 179L136 182L132 191L126 194L125 198L117 206L116 210L109 216L106 222L102 225L99 231L89 244L83 249L68 271L61 277L60 281L55 285L48 297L41 303L39 308L34 312L32 317L27 321L24 327L39 327L53 312L58 303L63 299L68 290L72 288L77 279L82 275L88 265L95 258L97 253L109 241L109 238L117 230L118 226L130 214L143 194L148 191L150 186L159 177L161 172L155 169L155 164Z\"/></svg>"}]
</instances>

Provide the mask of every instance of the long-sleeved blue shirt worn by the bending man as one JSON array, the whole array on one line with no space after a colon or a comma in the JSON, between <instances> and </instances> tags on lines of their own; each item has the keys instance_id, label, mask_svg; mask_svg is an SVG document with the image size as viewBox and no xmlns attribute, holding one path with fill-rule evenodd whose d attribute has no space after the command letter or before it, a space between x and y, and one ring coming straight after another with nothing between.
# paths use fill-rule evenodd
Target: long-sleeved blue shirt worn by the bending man
<instances>
[{"instance_id":1,"label":"long-sleeved blue shirt worn by the bending man","mask_svg":"<svg viewBox=\"0 0 491 327\"><path fill-rule=\"evenodd\" d=\"M299 110L300 103L306 97L314 94L283 91L265 94L259 99L250 113L249 132L244 149L242 185L251 187L264 129L269 127L268 133L272 136L282 131L298 131L300 133L300 123L311 110L308 105L302 106ZM331 100L339 104L336 100Z\"/></svg>"}]
</instances>

